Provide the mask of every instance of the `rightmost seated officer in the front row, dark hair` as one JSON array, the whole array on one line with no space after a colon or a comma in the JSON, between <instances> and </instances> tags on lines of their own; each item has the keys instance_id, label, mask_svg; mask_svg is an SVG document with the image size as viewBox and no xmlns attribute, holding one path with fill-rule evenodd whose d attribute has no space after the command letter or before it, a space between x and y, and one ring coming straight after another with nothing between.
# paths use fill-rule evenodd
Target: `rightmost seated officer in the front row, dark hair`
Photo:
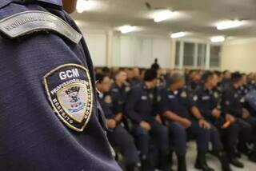
<instances>
[{"instance_id":1,"label":"rightmost seated officer in the front row, dark hair","mask_svg":"<svg viewBox=\"0 0 256 171\"><path fill-rule=\"evenodd\" d=\"M248 154L250 161L256 162L256 119L252 117L241 103L242 97L239 95L239 88L242 86L242 74L236 72L231 76L232 85L230 89L225 89L222 94L222 109L224 113L230 113L236 118L240 129L238 149L242 153ZM246 145L253 142L254 148L250 151Z\"/></svg>"}]
</instances>

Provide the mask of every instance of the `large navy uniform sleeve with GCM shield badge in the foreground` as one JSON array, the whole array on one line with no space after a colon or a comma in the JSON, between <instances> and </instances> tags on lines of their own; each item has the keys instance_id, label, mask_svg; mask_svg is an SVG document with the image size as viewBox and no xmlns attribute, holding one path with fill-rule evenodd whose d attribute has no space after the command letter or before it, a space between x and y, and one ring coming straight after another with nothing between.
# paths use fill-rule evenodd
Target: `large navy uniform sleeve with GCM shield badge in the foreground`
<instances>
[{"instance_id":1,"label":"large navy uniform sleeve with GCM shield badge in the foreground","mask_svg":"<svg viewBox=\"0 0 256 171\"><path fill-rule=\"evenodd\" d=\"M62 10L61 0L16 2L1 0L0 19L39 10L62 18L80 32ZM1 170L121 170L111 155L104 125L98 119L102 113L95 106L93 64L83 38L76 44L52 31L37 31L13 39L0 36L0 55ZM47 91L42 82L50 71L47 84L56 89ZM65 88L58 90L58 85ZM51 99L46 92L58 92L59 99ZM88 101L81 100L85 98ZM62 104L57 102L60 100ZM64 106L66 113L74 114L74 119L56 114ZM83 117L81 109L91 110ZM73 121L85 118L88 122L83 131L71 129Z\"/></svg>"}]
</instances>

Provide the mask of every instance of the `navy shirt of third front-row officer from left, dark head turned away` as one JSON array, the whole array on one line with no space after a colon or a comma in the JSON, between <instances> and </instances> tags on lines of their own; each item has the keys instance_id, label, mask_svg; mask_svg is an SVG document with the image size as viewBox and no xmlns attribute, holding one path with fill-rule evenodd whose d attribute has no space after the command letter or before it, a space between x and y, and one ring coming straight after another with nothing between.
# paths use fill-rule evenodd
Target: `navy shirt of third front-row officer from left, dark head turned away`
<instances>
[{"instance_id":1,"label":"navy shirt of third front-row officer from left, dark head turned away","mask_svg":"<svg viewBox=\"0 0 256 171\"><path fill-rule=\"evenodd\" d=\"M154 121L154 89L147 89L145 83L130 89L126 114L137 124L141 121Z\"/></svg>"}]
</instances>

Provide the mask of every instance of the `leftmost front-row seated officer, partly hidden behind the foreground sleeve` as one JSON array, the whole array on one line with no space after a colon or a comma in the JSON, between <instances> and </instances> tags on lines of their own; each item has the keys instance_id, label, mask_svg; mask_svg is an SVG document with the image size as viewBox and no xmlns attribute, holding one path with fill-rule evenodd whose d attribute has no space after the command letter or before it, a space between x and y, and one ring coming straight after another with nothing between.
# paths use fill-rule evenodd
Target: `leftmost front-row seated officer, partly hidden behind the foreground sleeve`
<instances>
[{"instance_id":1,"label":"leftmost front-row seated officer, partly hidden behind the foreground sleeve","mask_svg":"<svg viewBox=\"0 0 256 171\"><path fill-rule=\"evenodd\" d=\"M96 87L99 94L99 101L102 105L102 109L106 116L107 137L110 144L118 148L122 155L125 157L126 170L137 170L138 166L138 151L134 145L133 137L124 129L121 125L118 125L118 121L115 121L115 115L111 111L112 100L107 92L110 90L110 78L104 74L96 74L97 84Z\"/></svg>"}]
</instances>

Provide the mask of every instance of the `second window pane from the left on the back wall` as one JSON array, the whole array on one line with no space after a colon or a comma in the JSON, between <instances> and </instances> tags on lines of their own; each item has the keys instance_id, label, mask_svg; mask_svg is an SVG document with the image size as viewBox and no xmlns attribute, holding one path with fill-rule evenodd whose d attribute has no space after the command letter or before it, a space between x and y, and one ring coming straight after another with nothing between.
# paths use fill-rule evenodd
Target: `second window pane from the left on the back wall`
<instances>
[{"instance_id":1,"label":"second window pane from the left on the back wall","mask_svg":"<svg viewBox=\"0 0 256 171\"><path fill-rule=\"evenodd\" d=\"M194 66L194 43L184 43L184 66Z\"/></svg>"}]
</instances>

